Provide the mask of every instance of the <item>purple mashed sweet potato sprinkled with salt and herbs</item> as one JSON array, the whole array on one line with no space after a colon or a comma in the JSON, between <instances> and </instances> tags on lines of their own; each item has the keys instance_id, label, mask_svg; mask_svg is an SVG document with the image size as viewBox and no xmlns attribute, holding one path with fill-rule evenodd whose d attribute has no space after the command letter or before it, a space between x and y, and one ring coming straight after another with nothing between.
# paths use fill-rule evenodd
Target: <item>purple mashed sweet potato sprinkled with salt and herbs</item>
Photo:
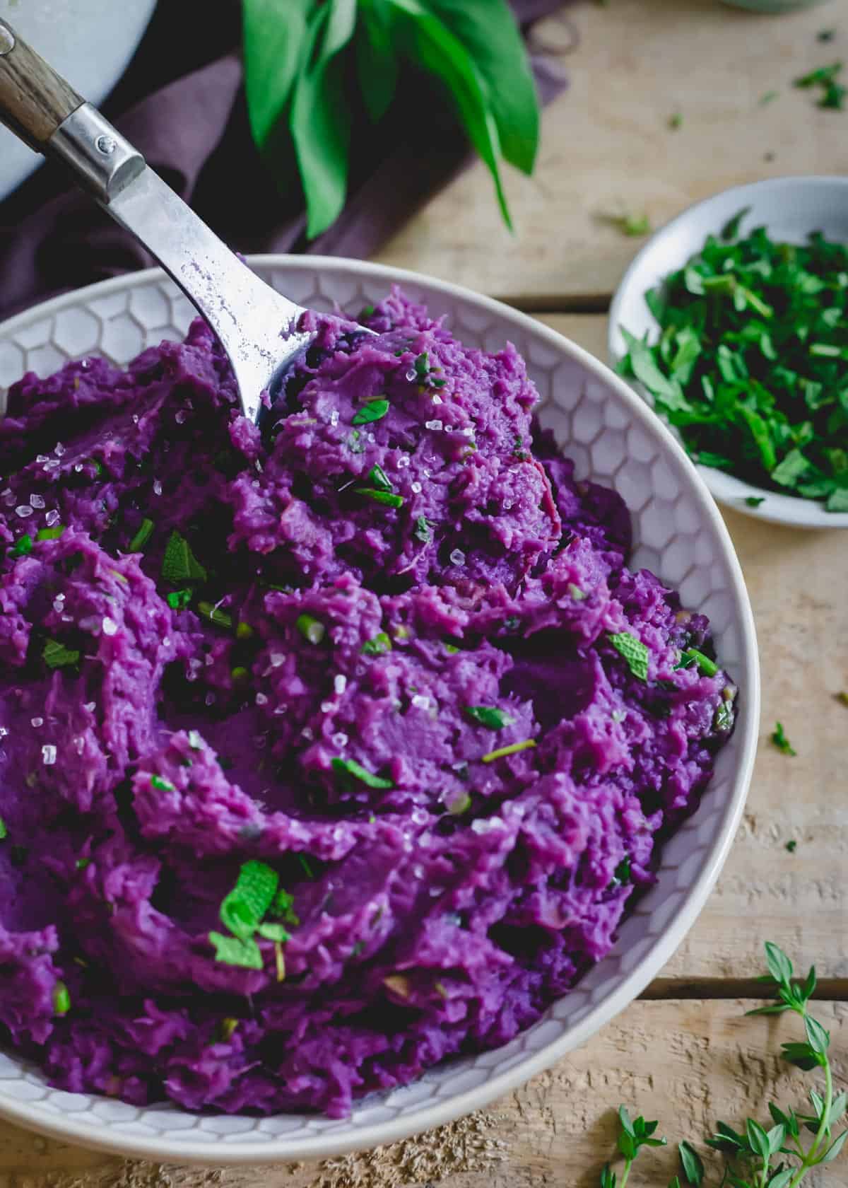
<instances>
[{"instance_id":1,"label":"purple mashed sweet potato sprinkled with salt and herbs","mask_svg":"<svg viewBox=\"0 0 848 1188\"><path fill-rule=\"evenodd\" d=\"M0 1036L53 1085L347 1114L614 943L735 690L534 432L518 354L395 292L262 435L196 322L0 423Z\"/></svg>"}]
</instances>

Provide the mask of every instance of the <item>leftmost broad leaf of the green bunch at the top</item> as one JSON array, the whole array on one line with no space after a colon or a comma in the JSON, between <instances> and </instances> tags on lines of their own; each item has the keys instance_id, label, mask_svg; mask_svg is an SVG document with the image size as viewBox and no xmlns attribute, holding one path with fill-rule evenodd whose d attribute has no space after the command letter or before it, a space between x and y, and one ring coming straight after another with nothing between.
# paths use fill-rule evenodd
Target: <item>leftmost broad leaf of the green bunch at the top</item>
<instances>
[{"instance_id":1,"label":"leftmost broad leaf of the green bunch at the top","mask_svg":"<svg viewBox=\"0 0 848 1188\"><path fill-rule=\"evenodd\" d=\"M315 0L242 0L247 113L260 150L291 96L314 7Z\"/></svg>"}]
</instances>

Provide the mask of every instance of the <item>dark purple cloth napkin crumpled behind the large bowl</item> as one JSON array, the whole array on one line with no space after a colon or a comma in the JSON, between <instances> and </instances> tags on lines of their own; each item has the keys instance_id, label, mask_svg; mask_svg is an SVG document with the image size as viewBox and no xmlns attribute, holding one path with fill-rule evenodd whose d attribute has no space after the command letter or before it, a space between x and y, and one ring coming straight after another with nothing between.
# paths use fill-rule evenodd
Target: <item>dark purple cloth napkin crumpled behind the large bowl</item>
<instances>
[{"instance_id":1,"label":"dark purple cloth napkin crumpled behind the large bowl","mask_svg":"<svg viewBox=\"0 0 848 1188\"><path fill-rule=\"evenodd\" d=\"M521 27L563 0L511 0ZM105 113L165 181L241 252L363 258L472 159L447 102L403 91L380 127L354 144L348 203L308 242L296 171L280 194L251 140L239 57L240 5L159 4ZM185 29L195 32L191 39ZM544 102L567 86L555 59L533 55ZM492 198L494 201L494 197ZM0 204L0 318L55 293L153 261L89 198L46 164Z\"/></svg>"}]
</instances>

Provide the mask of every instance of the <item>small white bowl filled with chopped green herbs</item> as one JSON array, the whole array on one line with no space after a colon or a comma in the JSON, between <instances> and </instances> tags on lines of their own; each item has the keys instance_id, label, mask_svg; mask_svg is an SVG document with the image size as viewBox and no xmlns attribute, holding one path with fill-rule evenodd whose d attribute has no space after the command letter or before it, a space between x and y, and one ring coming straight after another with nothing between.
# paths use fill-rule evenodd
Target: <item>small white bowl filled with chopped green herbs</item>
<instances>
[{"instance_id":1,"label":"small white bowl filled with chopped green herbs","mask_svg":"<svg viewBox=\"0 0 848 1188\"><path fill-rule=\"evenodd\" d=\"M844 178L716 195L650 240L613 301L619 373L746 514L848 526L846 201Z\"/></svg>"}]
</instances>

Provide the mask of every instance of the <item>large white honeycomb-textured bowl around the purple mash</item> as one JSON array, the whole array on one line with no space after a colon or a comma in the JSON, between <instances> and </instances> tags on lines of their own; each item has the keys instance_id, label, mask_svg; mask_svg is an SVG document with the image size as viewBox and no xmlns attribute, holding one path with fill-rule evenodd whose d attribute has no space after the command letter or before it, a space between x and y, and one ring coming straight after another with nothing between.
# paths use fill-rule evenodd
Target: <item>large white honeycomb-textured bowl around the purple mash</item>
<instances>
[{"instance_id":1,"label":"large white honeycomb-textured bowl around the purple mash","mask_svg":"<svg viewBox=\"0 0 848 1188\"><path fill-rule=\"evenodd\" d=\"M257 270L318 309L356 314L397 282L447 315L467 343L510 339L527 360L543 422L580 475L615 487L633 514L637 565L679 588L708 614L723 663L741 689L735 733L721 752L697 814L665 846L659 881L621 928L613 953L539 1022L498 1051L428 1072L404 1089L360 1101L344 1120L321 1117L198 1117L170 1106L51 1089L33 1066L0 1054L0 1116L56 1137L122 1155L175 1162L272 1162L328 1156L448 1121L525 1081L589 1038L669 960L721 870L751 778L759 723L759 671L751 606L724 524L691 462L629 387L580 347L487 297L411 272L349 260L259 257ZM181 335L191 309L158 271L109 280L48 302L0 326L0 390L27 368L48 374L99 352L127 362Z\"/></svg>"}]
</instances>

